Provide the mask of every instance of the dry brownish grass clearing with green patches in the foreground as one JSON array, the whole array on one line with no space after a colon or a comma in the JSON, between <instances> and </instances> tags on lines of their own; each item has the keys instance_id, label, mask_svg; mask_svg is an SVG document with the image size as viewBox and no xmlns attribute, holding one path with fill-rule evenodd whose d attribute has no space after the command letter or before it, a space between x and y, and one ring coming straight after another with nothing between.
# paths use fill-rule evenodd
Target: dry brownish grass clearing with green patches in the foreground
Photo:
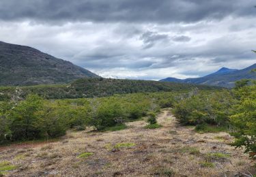
<instances>
[{"instance_id":1,"label":"dry brownish grass clearing with green patches in the foreground","mask_svg":"<svg viewBox=\"0 0 256 177\"><path fill-rule=\"evenodd\" d=\"M68 132L58 142L31 148L1 148L6 176L235 176L253 173L242 150L229 145L227 133L196 133L180 127L169 110L158 116L158 129L143 120L120 131ZM15 147L15 148L13 148ZM81 158L81 156L85 158ZM15 167L15 168L14 168Z\"/></svg>"}]
</instances>

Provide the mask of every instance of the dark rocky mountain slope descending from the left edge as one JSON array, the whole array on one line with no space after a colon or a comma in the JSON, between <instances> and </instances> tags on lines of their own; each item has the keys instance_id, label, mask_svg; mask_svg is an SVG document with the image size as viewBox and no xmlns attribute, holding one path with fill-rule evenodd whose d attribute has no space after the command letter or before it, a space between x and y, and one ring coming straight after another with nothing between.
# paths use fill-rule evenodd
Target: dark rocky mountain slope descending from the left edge
<instances>
[{"instance_id":1,"label":"dark rocky mountain slope descending from the left edge","mask_svg":"<svg viewBox=\"0 0 256 177\"><path fill-rule=\"evenodd\" d=\"M0 42L0 85L61 84L96 74L35 48Z\"/></svg>"}]
</instances>

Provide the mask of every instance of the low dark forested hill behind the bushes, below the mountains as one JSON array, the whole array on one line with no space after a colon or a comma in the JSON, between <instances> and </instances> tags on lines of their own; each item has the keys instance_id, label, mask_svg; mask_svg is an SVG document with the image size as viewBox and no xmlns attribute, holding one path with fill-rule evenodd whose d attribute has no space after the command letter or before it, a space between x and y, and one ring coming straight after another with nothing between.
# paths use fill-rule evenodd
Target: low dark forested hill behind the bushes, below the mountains
<instances>
[{"instance_id":1,"label":"low dark forested hill behind the bushes, below the mountains","mask_svg":"<svg viewBox=\"0 0 256 177\"><path fill-rule=\"evenodd\" d=\"M0 101L10 99L16 93L16 86L0 86ZM216 86L158 82L152 80L125 80L106 78L83 78L70 84L37 85L18 87L20 97L29 93L38 94L46 99L105 97L126 93L184 92L199 90L216 90Z\"/></svg>"}]
</instances>

